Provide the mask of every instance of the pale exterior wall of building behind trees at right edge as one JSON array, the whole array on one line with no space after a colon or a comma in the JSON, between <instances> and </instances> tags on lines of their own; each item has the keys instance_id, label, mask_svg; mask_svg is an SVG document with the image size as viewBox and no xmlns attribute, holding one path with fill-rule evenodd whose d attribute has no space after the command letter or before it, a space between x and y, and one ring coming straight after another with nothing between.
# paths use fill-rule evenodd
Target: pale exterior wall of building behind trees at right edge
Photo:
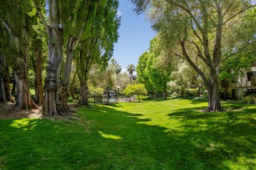
<instances>
[{"instance_id":1,"label":"pale exterior wall of building behind trees at right edge","mask_svg":"<svg viewBox=\"0 0 256 170\"><path fill-rule=\"evenodd\" d=\"M245 92L248 89L256 89L256 86L252 86L251 81L247 81L247 72L256 71L256 67L251 67L251 70L245 71L243 76L238 77L236 83L228 83L228 98L233 98L232 94L235 92L238 99L245 97ZM233 90L233 91L232 91Z\"/></svg>"}]
</instances>

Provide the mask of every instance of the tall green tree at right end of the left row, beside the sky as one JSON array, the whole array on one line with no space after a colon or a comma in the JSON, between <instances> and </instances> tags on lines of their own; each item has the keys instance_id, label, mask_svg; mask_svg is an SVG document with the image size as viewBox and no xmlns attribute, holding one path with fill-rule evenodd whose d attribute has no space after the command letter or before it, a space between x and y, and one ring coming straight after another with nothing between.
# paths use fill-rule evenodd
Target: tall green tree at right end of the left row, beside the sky
<instances>
[{"instance_id":1,"label":"tall green tree at right end of the left row, beside the sky","mask_svg":"<svg viewBox=\"0 0 256 170\"><path fill-rule=\"evenodd\" d=\"M118 38L120 19L117 18L118 1L100 1L94 6L94 17L89 33L81 41L81 50L75 57L77 75L81 83L79 105L89 105L88 79L92 65L98 63L104 69L113 55Z\"/></svg>"}]
</instances>

